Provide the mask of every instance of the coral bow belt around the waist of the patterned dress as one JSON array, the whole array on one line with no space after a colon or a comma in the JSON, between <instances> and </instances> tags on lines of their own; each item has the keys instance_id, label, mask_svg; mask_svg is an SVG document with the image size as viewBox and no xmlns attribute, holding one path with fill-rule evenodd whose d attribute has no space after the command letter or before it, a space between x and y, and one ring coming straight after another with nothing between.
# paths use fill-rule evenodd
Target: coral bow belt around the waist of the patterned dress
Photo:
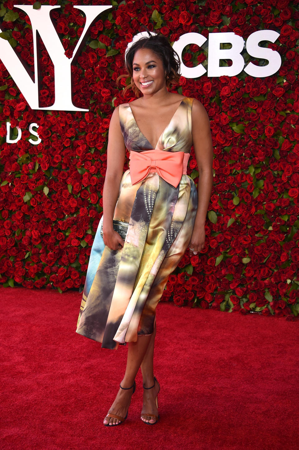
<instances>
[{"instance_id":1,"label":"coral bow belt around the waist of the patterned dress","mask_svg":"<svg viewBox=\"0 0 299 450\"><path fill-rule=\"evenodd\" d=\"M163 180L175 188L182 175L187 173L190 153L167 152L164 150L145 150L130 152L130 175L132 184L144 180L150 172L157 172Z\"/></svg>"}]
</instances>

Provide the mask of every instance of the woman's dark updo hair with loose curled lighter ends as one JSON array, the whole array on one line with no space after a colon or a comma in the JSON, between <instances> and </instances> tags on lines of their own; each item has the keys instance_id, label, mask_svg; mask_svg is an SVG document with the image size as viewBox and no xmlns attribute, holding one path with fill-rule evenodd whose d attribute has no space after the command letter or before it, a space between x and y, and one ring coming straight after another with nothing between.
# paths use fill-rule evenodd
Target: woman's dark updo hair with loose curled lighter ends
<instances>
[{"instance_id":1,"label":"woman's dark updo hair with loose curled lighter ends","mask_svg":"<svg viewBox=\"0 0 299 450\"><path fill-rule=\"evenodd\" d=\"M137 50L140 49L149 49L154 54L158 56L159 59L163 62L163 67L166 72L166 86L167 88L172 84L178 84L180 80L180 58L176 51L171 47L168 39L163 36L163 34L158 33L156 35L152 35L149 30L146 28L146 31L149 34L149 37L141 37L137 40L131 47L128 49L126 54L125 66L127 69L127 74L120 75L116 82L118 83L121 78L126 76L127 78L131 78L131 83L127 85L123 90L123 95L126 91L132 88L134 94L137 97L140 95L140 90L137 88L136 84L133 81L133 59Z\"/></svg>"}]
</instances>

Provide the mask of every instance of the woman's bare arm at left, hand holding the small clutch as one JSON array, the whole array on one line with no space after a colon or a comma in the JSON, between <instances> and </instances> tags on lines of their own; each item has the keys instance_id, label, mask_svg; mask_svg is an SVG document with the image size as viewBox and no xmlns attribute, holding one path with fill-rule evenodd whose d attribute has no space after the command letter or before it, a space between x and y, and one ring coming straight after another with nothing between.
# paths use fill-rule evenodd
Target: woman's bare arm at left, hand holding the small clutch
<instances>
[{"instance_id":1,"label":"woman's bare arm at left, hand holding the small clutch","mask_svg":"<svg viewBox=\"0 0 299 450\"><path fill-rule=\"evenodd\" d=\"M107 148L107 170L103 189L103 240L112 250L123 247L123 239L113 229L114 209L119 195L119 184L123 175L126 147L119 124L119 107L110 119Z\"/></svg>"}]
</instances>

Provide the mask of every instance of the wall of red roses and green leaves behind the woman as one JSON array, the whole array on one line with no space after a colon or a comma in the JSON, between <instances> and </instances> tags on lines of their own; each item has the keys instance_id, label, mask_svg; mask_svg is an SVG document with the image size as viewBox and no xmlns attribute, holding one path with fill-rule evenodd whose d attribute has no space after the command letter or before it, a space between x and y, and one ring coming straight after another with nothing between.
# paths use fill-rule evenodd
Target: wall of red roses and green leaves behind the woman
<instances>
[{"instance_id":1,"label":"wall of red roses and green leaves behind the woman","mask_svg":"<svg viewBox=\"0 0 299 450\"><path fill-rule=\"evenodd\" d=\"M28 16L4 1L2 39L34 71ZM0 282L3 286L82 289L92 241L102 214L110 117L126 84L124 52L141 24L171 42L186 32L208 37L234 32L280 33L274 44L281 67L273 76L180 78L174 91L195 97L207 109L215 152L214 187L200 255L187 252L170 275L162 300L221 311L299 313L299 12L288 0L23 1L61 5L51 13L66 56L71 57L85 16L76 4L111 4L90 28L72 64L73 103L89 112L31 110L0 62ZM1 42L0 42L1 45ZM225 48L225 44L223 45ZM265 65L243 50L245 62ZM207 45L189 45L186 66L207 68ZM230 60L222 60L224 66ZM40 40L40 106L54 102L54 67ZM6 143L6 122L22 138ZM28 131L39 125L42 142ZM126 167L125 167L126 168ZM198 180L194 154L188 174Z\"/></svg>"}]
</instances>

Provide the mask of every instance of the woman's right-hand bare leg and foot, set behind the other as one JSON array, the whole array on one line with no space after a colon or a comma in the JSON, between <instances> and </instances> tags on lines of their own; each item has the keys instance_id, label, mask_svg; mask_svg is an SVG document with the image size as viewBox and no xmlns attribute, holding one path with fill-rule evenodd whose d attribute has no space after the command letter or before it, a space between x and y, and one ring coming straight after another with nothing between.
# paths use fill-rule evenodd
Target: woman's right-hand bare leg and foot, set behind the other
<instances>
[{"instance_id":1,"label":"woman's right-hand bare leg and foot, set behind the other","mask_svg":"<svg viewBox=\"0 0 299 450\"><path fill-rule=\"evenodd\" d=\"M152 387L152 389L143 390L143 406L141 414L154 414L158 417L158 409L156 405L156 396L159 391L158 384L154 381L154 342L156 337L156 324L154 325L154 332L151 335L149 346L145 352L145 356L141 363L142 381L145 387ZM155 423L156 419L150 416L141 417L144 422Z\"/></svg>"}]
</instances>

